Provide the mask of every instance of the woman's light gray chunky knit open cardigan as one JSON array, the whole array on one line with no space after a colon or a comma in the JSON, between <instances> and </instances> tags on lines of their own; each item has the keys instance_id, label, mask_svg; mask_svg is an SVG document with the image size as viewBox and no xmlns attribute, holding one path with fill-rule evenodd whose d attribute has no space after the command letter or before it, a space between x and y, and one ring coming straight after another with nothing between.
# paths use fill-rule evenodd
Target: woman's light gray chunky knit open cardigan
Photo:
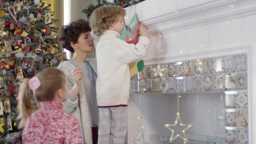
<instances>
[{"instance_id":1,"label":"woman's light gray chunky knit open cardigan","mask_svg":"<svg viewBox=\"0 0 256 144\"><path fill-rule=\"evenodd\" d=\"M91 66L94 72L97 74L97 61L96 59L86 59ZM64 74L66 75L66 80L68 83L69 90L74 86L74 80L72 79L72 70L75 66L70 61L61 62L58 66ZM89 107L86 99L86 94L84 91L84 84L78 93L78 98L73 102L68 98L63 104L63 110L74 115L79 121L81 126L81 132L83 136L84 144L92 144L92 124L90 121ZM80 106L80 107L79 107Z\"/></svg>"}]
</instances>

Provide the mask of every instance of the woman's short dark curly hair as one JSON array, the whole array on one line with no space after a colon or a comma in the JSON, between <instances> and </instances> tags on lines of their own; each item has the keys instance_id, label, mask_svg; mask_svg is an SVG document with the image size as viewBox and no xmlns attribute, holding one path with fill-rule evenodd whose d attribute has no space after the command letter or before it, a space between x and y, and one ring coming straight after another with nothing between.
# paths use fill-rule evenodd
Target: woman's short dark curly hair
<instances>
[{"instance_id":1,"label":"woman's short dark curly hair","mask_svg":"<svg viewBox=\"0 0 256 144\"><path fill-rule=\"evenodd\" d=\"M70 46L70 42L77 43L79 36L82 33L90 32L91 28L89 22L83 19L78 19L75 22L71 22L68 25L61 27L59 36L60 43L63 48L66 48L70 52L74 53L74 49Z\"/></svg>"}]
</instances>

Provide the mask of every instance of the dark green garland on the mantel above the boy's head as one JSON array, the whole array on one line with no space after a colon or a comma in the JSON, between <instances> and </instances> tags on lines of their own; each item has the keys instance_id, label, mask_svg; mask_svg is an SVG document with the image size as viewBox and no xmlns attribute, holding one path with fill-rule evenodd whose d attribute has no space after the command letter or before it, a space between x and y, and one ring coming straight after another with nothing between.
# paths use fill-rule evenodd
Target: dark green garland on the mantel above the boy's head
<instances>
[{"instance_id":1,"label":"dark green garland on the mantel above the boy's head","mask_svg":"<svg viewBox=\"0 0 256 144\"><path fill-rule=\"evenodd\" d=\"M126 8L128 6L132 6L142 1L144 0L114 0L114 2L109 2L109 0L97 0L97 4L95 6L92 3L90 3L86 9L82 10L82 12L85 13L86 18L89 19L92 12L100 6L111 4L111 5L117 5L117 6L122 6L123 8Z\"/></svg>"}]
</instances>

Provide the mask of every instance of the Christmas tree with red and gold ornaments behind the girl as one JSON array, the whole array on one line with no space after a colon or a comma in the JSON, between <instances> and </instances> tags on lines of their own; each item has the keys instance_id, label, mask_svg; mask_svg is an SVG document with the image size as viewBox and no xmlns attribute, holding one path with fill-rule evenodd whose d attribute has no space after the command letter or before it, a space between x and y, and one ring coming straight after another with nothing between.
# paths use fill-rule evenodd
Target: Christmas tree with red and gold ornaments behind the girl
<instances>
[{"instance_id":1,"label":"Christmas tree with red and gold ornaments behind the girl","mask_svg":"<svg viewBox=\"0 0 256 144\"><path fill-rule=\"evenodd\" d=\"M19 84L40 70L66 60L50 4L40 0L0 0L0 143L21 144ZM35 104L36 106L36 104Z\"/></svg>"}]
</instances>

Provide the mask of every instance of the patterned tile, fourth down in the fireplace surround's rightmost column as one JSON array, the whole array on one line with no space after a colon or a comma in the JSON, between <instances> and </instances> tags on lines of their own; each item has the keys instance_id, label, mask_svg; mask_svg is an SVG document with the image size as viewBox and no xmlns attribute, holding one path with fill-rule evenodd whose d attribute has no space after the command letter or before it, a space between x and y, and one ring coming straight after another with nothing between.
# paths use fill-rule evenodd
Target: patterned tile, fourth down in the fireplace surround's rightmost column
<instances>
[{"instance_id":1,"label":"patterned tile, fourth down in the fireplace surround's rightmost column","mask_svg":"<svg viewBox=\"0 0 256 144\"><path fill-rule=\"evenodd\" d=\"M237 110L237 120L236 120L237 127L248 127L248 110Z\"/></svg>"}]
</instances>

